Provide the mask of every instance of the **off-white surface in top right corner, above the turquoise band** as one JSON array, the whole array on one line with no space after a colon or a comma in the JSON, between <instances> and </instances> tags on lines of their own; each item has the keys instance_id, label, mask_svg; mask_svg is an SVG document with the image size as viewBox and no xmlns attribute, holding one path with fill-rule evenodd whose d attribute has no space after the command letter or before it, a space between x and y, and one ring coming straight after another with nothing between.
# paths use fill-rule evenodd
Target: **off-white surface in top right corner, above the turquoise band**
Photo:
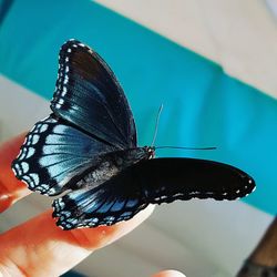
<instances>
[{"instance_id":1,"label":"off-white surface in top right corner, above the turquoise band","mask_svg":"<svg viewBox=\"0 0 277 277\"><path fill-rule=\"evenodd\" d=\"M276 22L259 0L96 0L277 98Z\"/></svg>"}]
</instances>

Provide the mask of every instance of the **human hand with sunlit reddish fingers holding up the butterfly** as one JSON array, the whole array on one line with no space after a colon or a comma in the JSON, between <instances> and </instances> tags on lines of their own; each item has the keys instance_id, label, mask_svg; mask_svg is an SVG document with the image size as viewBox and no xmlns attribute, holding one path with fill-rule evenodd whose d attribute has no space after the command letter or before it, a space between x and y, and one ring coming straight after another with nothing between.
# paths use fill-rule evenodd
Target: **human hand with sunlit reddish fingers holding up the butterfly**
<instances>
[{"instance_id":1,"label":"human hand with sunlit reddish fingers holding up the butterfly","mask_svg":"<svg viewBox=\"0 0 277 277\"><path fill-rule=\"evenodd\" d=\"M18 181L11 162L18 155L24 134L0 146L0 213L31 191ZM62 230L52 218L52 209L0 235L0 276L60 276L94 250L130 233L146 219L153 206L134 218L113 226ZM153 277L182 277L175 270Z\"/></svg>"}]
</instances>

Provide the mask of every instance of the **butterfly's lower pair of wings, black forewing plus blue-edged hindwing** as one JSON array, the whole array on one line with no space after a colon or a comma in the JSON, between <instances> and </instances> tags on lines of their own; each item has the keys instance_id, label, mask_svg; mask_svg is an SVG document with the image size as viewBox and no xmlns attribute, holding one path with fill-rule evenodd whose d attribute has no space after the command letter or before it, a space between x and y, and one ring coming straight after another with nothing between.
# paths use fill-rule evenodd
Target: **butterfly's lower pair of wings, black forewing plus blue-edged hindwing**
<instances>
[{"instance_id":1,"label":"butterfly's lower pair of wings, black forewing plus blue-edged hindwing","mask_svg":"<svg viewBox=\"0 0 277 277\"><path fill-rule=\"evenodd\" d=\"M196 158L138 162L98 188L79 189L53 202L63 229L112 225L132 218L148 204L177 199L237 199L252 193L254 179L223 163Z\"/></svg>"}]
</instances>

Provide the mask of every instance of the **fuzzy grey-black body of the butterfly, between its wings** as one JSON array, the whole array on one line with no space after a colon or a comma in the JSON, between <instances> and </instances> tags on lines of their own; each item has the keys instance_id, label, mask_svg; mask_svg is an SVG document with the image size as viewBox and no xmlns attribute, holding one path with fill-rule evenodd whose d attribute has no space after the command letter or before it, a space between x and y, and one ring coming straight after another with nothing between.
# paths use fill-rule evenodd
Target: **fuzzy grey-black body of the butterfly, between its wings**
<instances>
[{"instance_id":1,"label":"fuzzy grey-black body of the butterfly, between its wings","mask_svg":"<svg viewBox=\"0 0 277 277\"><path fill-rule=\"evenodd\" d=\"M99 162L76 183L76 187L94 187L112 178L129 166L142 160L153 158L154 147L134 147L114 151L99 156Z\"/></svg>"}]
</instances>

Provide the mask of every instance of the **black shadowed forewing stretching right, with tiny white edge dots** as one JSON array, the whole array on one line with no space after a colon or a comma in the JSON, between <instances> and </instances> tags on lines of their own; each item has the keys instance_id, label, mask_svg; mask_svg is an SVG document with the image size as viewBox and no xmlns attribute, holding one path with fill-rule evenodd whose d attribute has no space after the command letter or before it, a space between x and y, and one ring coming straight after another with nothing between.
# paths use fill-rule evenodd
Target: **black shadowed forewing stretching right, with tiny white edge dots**
<instances>
[{"instance_id":1,"label":"black shadowed forewing stretching right, with tiny white edge dots","mask_svg":"<svg viewBox=\"0 0 277 277\"><path fill-rule=\"evenodd\" d=\"M154 158L137 163L130 171L132 184L138 183L146 202L153 204L194 197L232 201L255 188L254 179L245 172L206 160Z\"/></svg>"}]
</instances>

